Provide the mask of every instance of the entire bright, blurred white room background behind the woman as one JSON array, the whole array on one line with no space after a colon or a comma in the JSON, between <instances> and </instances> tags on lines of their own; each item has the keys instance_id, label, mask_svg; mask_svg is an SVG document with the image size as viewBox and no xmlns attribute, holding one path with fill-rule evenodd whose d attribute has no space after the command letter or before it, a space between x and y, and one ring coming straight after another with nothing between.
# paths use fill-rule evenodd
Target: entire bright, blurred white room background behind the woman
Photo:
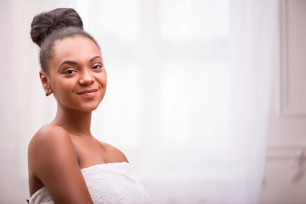
<instances>
[{"instance_id":1,"label":"entire bright, blurred white room background behind the woman","mask_svg":"<svg viewBox=\"0 0 306 204\"><path fill-rule=\"evenodd\" d=\"M30 29L59 7L104 57L92 133L154 203L306 203L304 0L2 0L0 203L30 198L28 144L56 114Z\"/></svg>"}]
</instances>

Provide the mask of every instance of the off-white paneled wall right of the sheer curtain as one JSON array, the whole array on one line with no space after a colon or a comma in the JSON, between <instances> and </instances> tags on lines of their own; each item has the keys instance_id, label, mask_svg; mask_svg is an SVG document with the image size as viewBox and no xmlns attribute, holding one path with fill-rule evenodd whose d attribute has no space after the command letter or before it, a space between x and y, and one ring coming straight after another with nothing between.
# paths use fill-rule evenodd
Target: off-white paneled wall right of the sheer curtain
<instances>
[{"instance_id":1,"label":"off-white paneled wall right of the sheer curtain","mask_svg":"<svg viewBox=\"0 0 306 204\"><path fill-rule=\"evenodd\" d=\"M306 148L306 1L279 2L280 43L262 203L303 204L306 177L297 183L292 177L297 171L294 160Z\"/></svg>"}]
</instances>

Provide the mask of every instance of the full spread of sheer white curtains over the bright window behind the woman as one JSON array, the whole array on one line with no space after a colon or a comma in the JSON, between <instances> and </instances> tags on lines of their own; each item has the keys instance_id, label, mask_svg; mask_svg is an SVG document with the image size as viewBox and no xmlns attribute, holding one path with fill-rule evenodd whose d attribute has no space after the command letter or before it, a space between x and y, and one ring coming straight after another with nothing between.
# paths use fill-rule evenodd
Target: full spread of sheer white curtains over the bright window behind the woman
<instances>
[{"instance_id":1,"label":"full spread of sheer white curtains over the bright window behind the woman","mask_svg":"<svg viewBox=\"0 0 306 204\"><path fill-rule=\"evenodd\" d=\"M5 117L17 120L6 121L4 130L15 125L16 133L2 140L17 142L10 157L19 173L11 177L22 190L15 199L29 197L29 141L56 114L55 99L39 82L31 20L72 7L99 42L108 72L92 133L125 153L154 203L259 203L277 6L277 0L10 3L10 57L18 56L10 82L17 94Z\"/></svg>"}]
</instances>

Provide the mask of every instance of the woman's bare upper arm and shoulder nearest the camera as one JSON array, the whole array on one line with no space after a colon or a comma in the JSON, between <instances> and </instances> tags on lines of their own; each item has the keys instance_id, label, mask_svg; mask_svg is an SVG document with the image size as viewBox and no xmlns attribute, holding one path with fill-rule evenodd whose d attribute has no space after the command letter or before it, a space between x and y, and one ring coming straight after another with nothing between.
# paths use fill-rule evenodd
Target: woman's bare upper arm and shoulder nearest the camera
<instances>
[{"instance_id":1,"label":"woman's bare upper arm and shoulder nearest the camera","mask_svg":"<svg viewBox=\"0 0 306 204\"><path fill-rule=\"evenodd\" d=\"M93 203L70 136L61 127L43 126L30 142L28 160L55 204Z\"/></svg>"}]
</instances>

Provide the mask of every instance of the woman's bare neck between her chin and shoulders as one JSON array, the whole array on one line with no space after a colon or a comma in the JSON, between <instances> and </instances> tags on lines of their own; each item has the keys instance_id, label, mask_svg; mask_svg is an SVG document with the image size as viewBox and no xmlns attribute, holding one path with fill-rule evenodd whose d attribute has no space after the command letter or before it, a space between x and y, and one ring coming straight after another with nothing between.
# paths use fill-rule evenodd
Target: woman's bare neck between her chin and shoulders
<instances>
[{"instance_id":1,"label":"woman's bare neck between her chin and shoulders","mask_svg":"<svg viewBox=\"0 0 306 204\"><path fill-rule=\"evenodd\" d=\"M58 103L57 114L52 124L63 127L68 133L78 136L92 136L90 132L91 111L83 112L62 107Z\"/></svg>"}]
</instances>

